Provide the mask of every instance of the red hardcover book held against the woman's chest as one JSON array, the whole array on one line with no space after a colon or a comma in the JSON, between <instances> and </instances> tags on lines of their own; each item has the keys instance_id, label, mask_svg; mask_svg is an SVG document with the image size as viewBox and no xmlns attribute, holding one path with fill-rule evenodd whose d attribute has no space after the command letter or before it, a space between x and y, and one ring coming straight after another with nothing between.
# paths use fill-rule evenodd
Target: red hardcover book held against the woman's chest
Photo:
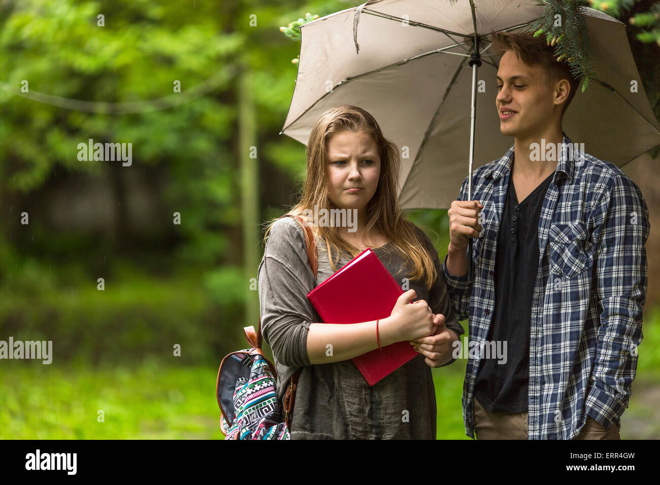
<instances>
[{"instance_id":1,"label":"red hardcover book held against the woman's chest","mask_svg":"<svg viewBox=\"0 0 660 485\"><path fill-rule=\"evenodd\" d=\"M376 253L367 248L309 292L307 298L325 323L360 323L389 317L401 294L401 286ZM417 355L405 340L351 360L369 385L374 385Z\"/></svg>"}]
</instances>

